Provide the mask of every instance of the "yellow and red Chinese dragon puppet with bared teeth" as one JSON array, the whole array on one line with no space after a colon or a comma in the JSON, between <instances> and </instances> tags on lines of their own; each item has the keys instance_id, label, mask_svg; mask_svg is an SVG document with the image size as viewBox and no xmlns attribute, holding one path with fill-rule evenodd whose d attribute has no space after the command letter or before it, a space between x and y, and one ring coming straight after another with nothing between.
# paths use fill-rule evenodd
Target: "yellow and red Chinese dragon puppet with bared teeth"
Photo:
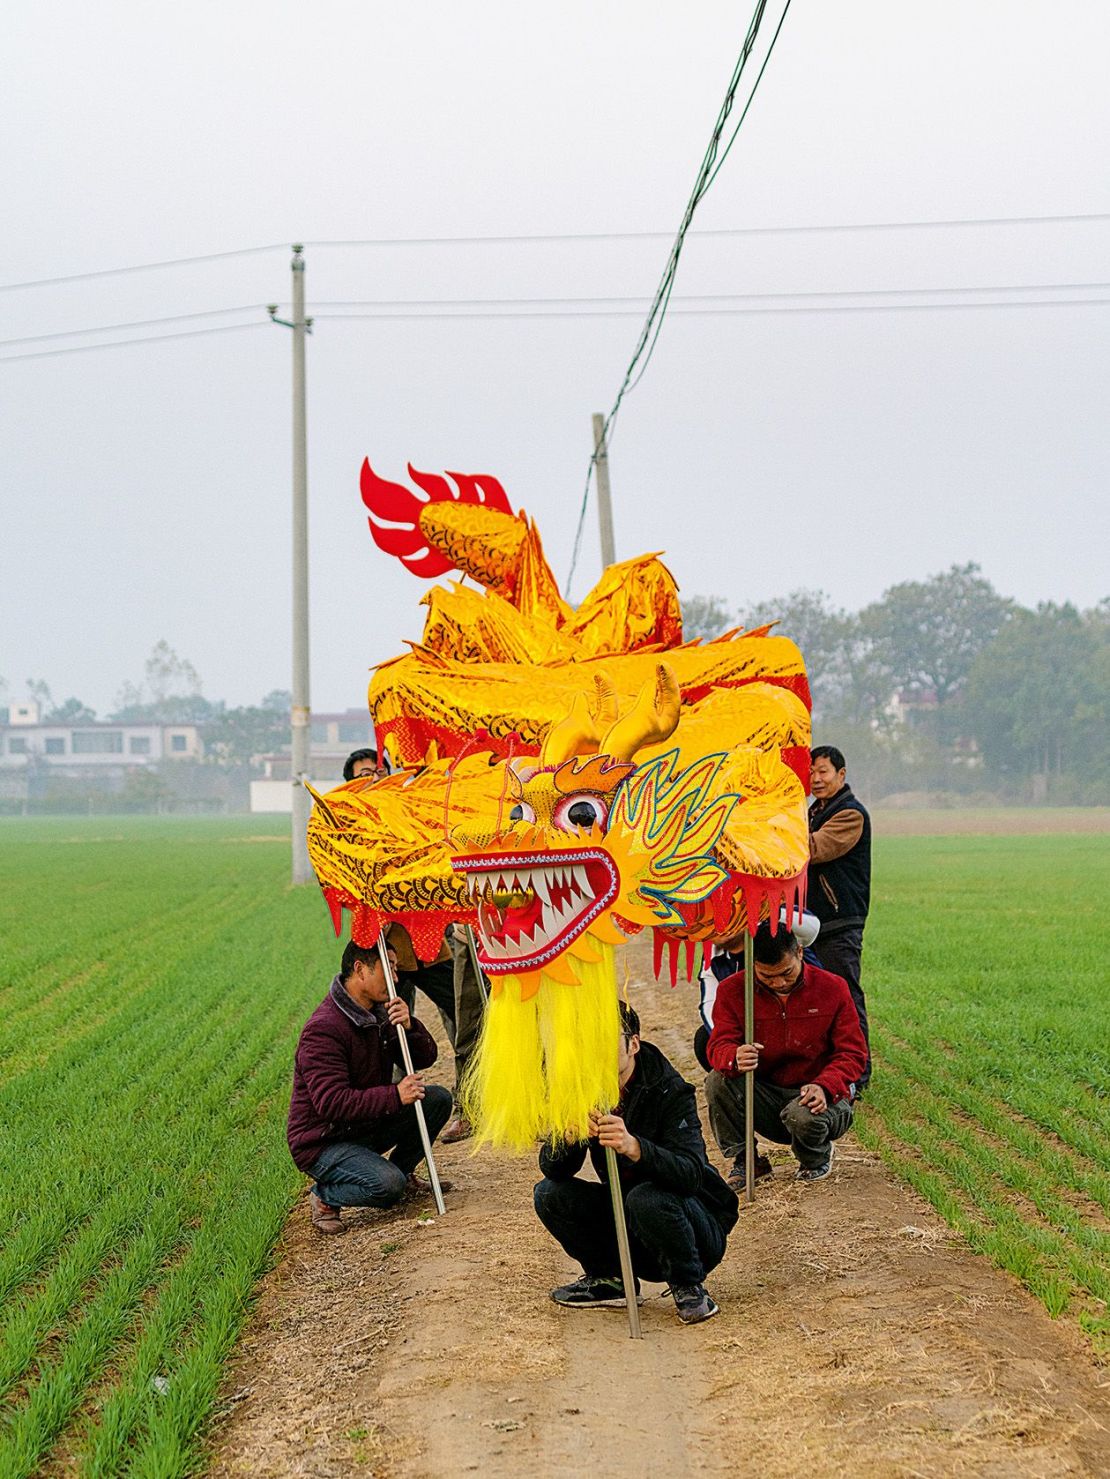
<instances>
[{"instance_id":1,"label":"yellow and red Chinese dragon puppet with bared teeth","mask_svg":"<svg viewBox=\"0 0 1110 1479\"><path fill-rule=\"evenodd\" d=\"M309 853L337 933L404 926L430 960L476 932L492 995L469 1075L479 1143L584 1133L616 1102L615 950L655 966L801 910L808 686L770 629L684 642L656 555L572 609L497 479L362 467L375 543L427 577L423 639L370 707L393 775L316 799ZM448 481L449 479L449 481Z\"/></svg>"}]
</instances>

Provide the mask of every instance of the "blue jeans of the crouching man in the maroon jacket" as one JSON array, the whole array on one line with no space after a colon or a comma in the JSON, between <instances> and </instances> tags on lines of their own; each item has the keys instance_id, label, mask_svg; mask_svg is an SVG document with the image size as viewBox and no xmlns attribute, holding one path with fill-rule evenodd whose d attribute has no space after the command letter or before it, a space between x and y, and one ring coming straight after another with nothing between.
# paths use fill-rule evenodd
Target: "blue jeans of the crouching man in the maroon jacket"
<instances>
[{"instance_id":1,"label":"blue jeans of the crouching man in the maroon jacket","mask_svg":"<svg viewBox=\"0 0 1110 1479\"><path fill-rule=\"evenodd\" d=\"M432 1140L451 1118L449 1089L429 1084L424 1089L424 1120ZM384 1152L393 1154L386 1160ZM415 1105L398 1114L384 1115L362 1134L321 1151L312 1164L315 1194L328 1207L393 1207L405 1194L405 1186L424 1160Z\"/></svg>"}]
</instances>

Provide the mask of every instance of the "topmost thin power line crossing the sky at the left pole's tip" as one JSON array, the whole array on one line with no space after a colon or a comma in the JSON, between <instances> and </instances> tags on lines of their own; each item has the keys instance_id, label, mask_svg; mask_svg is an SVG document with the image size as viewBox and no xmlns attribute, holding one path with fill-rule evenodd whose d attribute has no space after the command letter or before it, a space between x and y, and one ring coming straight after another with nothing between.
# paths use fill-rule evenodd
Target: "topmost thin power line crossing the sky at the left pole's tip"
<instances>
[{"instance_id":1,"label":"topmost thin power line crossing the sky at the left pole's tip","mask_svg":"<svg viewBox=\"0 0 1110 1479\"><path fill-rule=\"evenodd\" d=\"M782 24L782 22L779 22ZM766 65L766 64L764 64ZM942 220L860 220L817 222L813 225L786 226L711 226L690 231L687 235L709 238L740 237L804 237L829 232L854 231L958 231L977 226L1064 226L1092 225L1110 220L1110 211L1072 211L1045 216L952 216ZM306 241L312 248L353 247L494 247L560 244L573 241L671 241L670 231L548 231L517 232L495 237L367 237L350 240ZM0 282L0 293L15 293L22 288L58 287L65 282L87 282L95 278L123 277L130 272L154 272L161 268L194 266L204 262L222 262L231 257L259 256L265 251L288 251L285 241L272 241L257 247L234 247L228 251L202 251L188 257L164 257L158 262L135 262L115 268L96 268L89 272L68 272L59 277L28 278L22 282Z\"/></svg>"}]
</instances>

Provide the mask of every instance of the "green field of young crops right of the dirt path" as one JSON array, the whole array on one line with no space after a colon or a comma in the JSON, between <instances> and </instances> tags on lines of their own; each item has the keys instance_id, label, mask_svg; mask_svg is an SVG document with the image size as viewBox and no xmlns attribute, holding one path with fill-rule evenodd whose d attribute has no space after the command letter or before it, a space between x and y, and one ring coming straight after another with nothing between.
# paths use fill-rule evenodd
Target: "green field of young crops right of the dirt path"
<instances>
[{"instance_id":1,"label":"green field of young crops right of the dirt path","mask_svg":"<svg viewBox=\"0 0 1110 1479\"><path fill-rule=\"evenodd\" d=\"M860 1137L1110 1353L1106 839L887 839L876 879Z\"/></svg>"}]
</instances>

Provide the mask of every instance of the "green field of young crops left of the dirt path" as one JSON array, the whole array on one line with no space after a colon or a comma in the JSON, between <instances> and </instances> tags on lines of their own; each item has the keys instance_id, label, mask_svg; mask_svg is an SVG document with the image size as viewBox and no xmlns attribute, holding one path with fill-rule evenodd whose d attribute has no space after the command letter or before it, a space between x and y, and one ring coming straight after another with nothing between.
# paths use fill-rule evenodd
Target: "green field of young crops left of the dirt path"
<instances>
[{"instance_id":1,"label":"green field of young crops left of the dirt path","mask_svg":"<svg viewBox=\"0 0 1110 1479\"><path fill-rule=\"evenodd\" d=\"M4 827L4 1479L186 1472L300 1185L290 1062L336 951L244 831Z\"/></svg>"}]
</instances>

